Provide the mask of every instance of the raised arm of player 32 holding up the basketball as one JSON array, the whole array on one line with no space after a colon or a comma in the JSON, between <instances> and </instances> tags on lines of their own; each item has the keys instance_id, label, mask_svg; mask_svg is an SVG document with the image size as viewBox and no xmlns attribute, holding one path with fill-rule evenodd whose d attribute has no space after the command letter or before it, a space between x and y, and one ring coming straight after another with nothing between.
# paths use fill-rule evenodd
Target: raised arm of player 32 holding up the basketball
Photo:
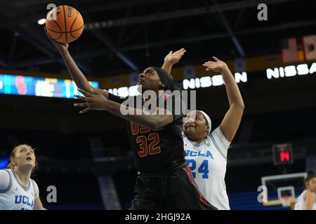
<instances>
[{"instance_id":1,"label":"raised arm of player 32 holding up the basketball","mask_svg":"<svg viewBox=\"0 0 316 224\"><path fill-rule=\"evenodd\" d=\"M46 29L45 29L46 31ZM72 77L72 80L74 80L74 83L76 83L77 87L79 87L82 90L86 90L87 92L93 88L96 92L99 92L103 94L105 97L108 97L108 93L105 90L100 90L97 88L92 87L90 83L88 83L88 80L86 79L86 76L84 76L84 73L80 71L78 68L76 62L74 62L74 59L72 59L72 56L70 55L70 52L68 51L68 43L58 43L57 41L54 41L51 36L46 31L46 35L53 43L55 48L60 52L60 55L62 56L62 59L64 60L67 69L70 73L70 76Z\"/></svg>"}]
</instances>

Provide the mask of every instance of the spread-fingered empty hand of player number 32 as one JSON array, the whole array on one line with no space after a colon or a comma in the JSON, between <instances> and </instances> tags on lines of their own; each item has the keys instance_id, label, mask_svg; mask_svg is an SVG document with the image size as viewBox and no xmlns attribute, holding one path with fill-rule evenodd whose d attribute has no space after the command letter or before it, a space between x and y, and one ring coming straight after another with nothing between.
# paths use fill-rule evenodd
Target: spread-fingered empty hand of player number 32
<instances>
[{"instance_id":1,"label":"spread-fingered empty hand of player number 32","mask_svg":"<svg viewBox=\"0 0 316 224\"><path fill-rule=\"evenodd\" d=\"M79 113L86 113L91 110L103 111L106 109L108 99L100 93L95 92L92 88L90 92L86 92L85 90L78 89L84 97L79 95L74 95L78 99L85 101L81 104L74 104L74 106L86 107L86 109L79 111Z\"/></svg>"}]
</instances>

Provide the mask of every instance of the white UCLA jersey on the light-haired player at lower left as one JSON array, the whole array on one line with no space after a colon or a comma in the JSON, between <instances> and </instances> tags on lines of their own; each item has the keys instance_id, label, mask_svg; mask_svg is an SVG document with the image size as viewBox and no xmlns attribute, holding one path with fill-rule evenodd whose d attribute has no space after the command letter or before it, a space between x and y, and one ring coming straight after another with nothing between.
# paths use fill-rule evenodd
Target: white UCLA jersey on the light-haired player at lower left
<instances>
[{"instance_id":1,"label":"white UCLA jersey on the light-haired player at lower left","mask_svg":"<svg viewBox=\"0 0 316 224\"><path fill-rule=\"evenodd\" d=\"M0 170L0 210L33 210L39 187L29 179L27 188L22 186L12 169Z\"/></svg>"}]
</instances>

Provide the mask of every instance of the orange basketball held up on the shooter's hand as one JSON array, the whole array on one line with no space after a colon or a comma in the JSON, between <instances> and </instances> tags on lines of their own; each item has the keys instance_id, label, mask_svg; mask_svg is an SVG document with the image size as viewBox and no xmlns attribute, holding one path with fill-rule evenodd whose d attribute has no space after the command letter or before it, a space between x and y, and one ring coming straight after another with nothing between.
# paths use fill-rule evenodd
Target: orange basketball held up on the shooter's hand
<instances>
[{"instance_id":1,"label":"orange basketball held up on the shooter's hand","mask_svg":"<svg viewBox=\"0 0 316 224\"><path fill-rule=\"evenodd\" d=\"M84 31L84 19L75 8L58 6L47 13L46 30L55 41L70 43Z\"/></svg>"}]
</instances>

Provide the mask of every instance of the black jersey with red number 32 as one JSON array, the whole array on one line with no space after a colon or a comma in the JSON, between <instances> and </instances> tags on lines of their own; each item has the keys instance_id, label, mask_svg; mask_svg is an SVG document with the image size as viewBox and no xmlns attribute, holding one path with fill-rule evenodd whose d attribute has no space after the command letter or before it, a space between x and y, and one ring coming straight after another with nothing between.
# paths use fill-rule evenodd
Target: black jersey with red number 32
<instances>
[{"instance_id":1,"label":"black jersey with red number 32","mask_svg":"<svg viewBox=\"0 0 316 224\"><path fill-rule=\"evenodd\" d=\"M166 95L162 97L165 99ZM171 111L173 123L159 130L150 130L129 121L127 123L131 148L136 158L136 168L141 173L161 172L177 162L185 162L182 138L183 114L175 115L176 97L171 97L173 97ZM109 93L109 99L121 104L127 98L117 97ZM167 109L166 104L164 104L164 109Z\"/></svg>"}]
</instances>

